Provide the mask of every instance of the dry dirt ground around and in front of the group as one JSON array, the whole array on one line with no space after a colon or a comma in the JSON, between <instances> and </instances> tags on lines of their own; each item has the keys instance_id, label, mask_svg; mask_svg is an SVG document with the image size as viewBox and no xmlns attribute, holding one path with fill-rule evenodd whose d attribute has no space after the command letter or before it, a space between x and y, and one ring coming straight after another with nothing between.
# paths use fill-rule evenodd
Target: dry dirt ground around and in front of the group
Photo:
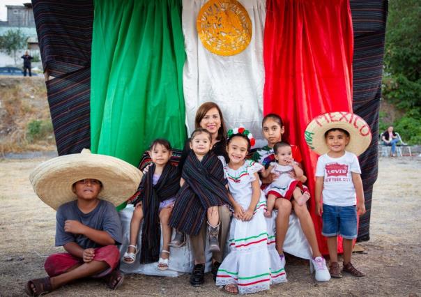
<instances>
[{"instance_id":1,"label":"dry dirt ground around and in front of the group","mask_svg":"<svg viewBox=\"0 0 421 297\"><path fill-rule=\"evenodd\" d=\"M45 276L43 261L54 247L55 212L33 193L31 169L45 158L0 159L0 296L24 295L24 284ZM421 296L421 158L381 158L374 185L371 240L360 245L353 263L367 273L355 278L317 283L307 261L287 258L289 282L260 296ZM126 275L118 291L84 280L68 284L49 296L226 296L206 275L206 284L193 288L188 275L148 277Z\"/></svg>"}]
</instances>

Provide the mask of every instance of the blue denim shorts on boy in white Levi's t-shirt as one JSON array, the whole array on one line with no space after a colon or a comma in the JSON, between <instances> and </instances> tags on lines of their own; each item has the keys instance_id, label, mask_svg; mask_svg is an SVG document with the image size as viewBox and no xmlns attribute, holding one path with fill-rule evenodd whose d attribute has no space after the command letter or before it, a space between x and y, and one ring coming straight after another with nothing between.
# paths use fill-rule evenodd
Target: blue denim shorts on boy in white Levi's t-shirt
<instances>
[{"instance_id":1,"label":"blue denim shorts on boy in white Levi's t-shirt","mask_svg":"<svg viewBox=\"0 0 421 297\"><path fill-rule=\"evenodd\" d=\"M340 235L345 239L357 238L357 207L323 204L323 228L326 237Z\"/></svg>"}]
</instances>

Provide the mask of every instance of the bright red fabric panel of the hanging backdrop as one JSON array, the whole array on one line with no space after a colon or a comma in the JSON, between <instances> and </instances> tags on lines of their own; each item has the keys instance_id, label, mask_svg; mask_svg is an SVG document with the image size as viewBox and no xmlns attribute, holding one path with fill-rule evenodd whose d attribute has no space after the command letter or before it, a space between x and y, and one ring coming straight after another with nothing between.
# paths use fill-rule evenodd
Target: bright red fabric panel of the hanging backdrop
<instances>
[{"instance_id":1,"label":"bright red fabric panel of the hanging backdrop","mask_svg":"<svg viewBox=\"0 0 421 297\"><path fill-rule=\"evenodd\" d=\"M266 10L263 113L282 116L286 125L283 138L300 148L314 197L317 155L305 144L305 127L319 114L352 111L349 1L268 0ZM328 254L321 218L314 213L314 198L309 207L321 252Z\"/></svg>"}]
</instances>

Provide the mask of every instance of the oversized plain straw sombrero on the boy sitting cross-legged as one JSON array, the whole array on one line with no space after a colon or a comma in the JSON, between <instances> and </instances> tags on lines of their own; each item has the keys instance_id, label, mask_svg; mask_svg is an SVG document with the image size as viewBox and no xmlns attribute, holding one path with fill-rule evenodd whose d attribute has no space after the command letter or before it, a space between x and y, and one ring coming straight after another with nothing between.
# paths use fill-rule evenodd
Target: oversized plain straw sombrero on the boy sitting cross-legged
<instances>
[{"instance_id":1,"label":"oversized plain straw sombrero on the boy sitting cross-legged","mask_svg":"<svg viewBox=\"0 0 421 297\"><path fill-rule=\"evenodd\" d=\"M118 206L130 198L139 186L141 172L128 162L109 155L82 153L62 155L41 163L29 176L36 195L55 210L76 199L73 183L85 178L98 179L102 190L98 198Z\"/></svg>"}]
</instances>

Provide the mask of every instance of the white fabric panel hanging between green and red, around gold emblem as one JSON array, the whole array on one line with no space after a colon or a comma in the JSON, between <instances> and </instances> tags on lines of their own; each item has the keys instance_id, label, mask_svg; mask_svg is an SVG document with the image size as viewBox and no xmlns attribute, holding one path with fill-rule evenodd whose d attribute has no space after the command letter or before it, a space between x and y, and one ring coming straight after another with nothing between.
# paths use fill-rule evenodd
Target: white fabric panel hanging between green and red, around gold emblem
<instances>
[{"instance_id":1,"label":"white fabric panel hanging between green and red, around gold emblem","mask_svg":"<svg viewBox=\"0 0 421 297\"><path fill-rule=\"evenodd\" d=\"M222 109L227 128L243 125L262 139L263 119L263 29L266 0L239 0L252 21L252 40L234 56L218 56L206 50L197 35L197 15L207 0L183 0L183 33L187 60L183 90L187 129L194 130L194 116L204 102Z\"/></svg>"}]
</instances>

